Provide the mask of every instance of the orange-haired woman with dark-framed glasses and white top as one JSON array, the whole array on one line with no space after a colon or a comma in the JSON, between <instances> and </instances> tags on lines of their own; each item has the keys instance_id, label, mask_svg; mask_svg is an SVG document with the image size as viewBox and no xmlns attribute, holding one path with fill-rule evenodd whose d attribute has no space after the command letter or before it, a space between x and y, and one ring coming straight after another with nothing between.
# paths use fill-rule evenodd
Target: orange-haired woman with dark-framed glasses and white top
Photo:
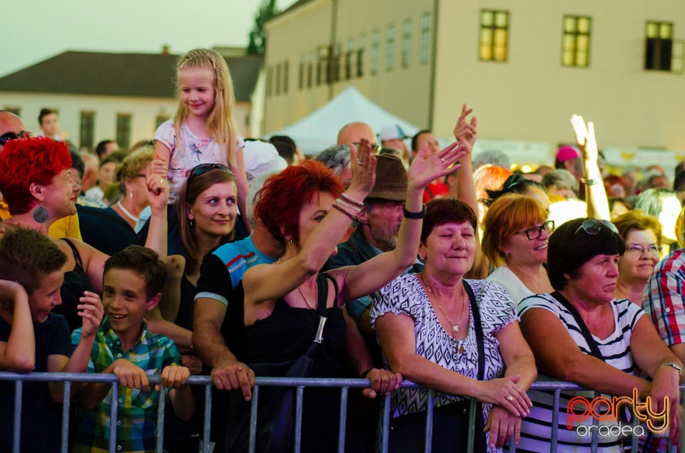
<instances>
[{"instance_id":1,"label":"orange-haired woman with dark-framed glasses and white top","mask_svg":"<svg viewBox=\"0 0 685 453\"><path fill-rule=\"evenodd\" d=\"M497 269L488 276L509 291L514 303L549 293L547 241L554 221L532 197L505 194L489 207L483 221L483 253Z\"/></svg>"}]
</instances>

